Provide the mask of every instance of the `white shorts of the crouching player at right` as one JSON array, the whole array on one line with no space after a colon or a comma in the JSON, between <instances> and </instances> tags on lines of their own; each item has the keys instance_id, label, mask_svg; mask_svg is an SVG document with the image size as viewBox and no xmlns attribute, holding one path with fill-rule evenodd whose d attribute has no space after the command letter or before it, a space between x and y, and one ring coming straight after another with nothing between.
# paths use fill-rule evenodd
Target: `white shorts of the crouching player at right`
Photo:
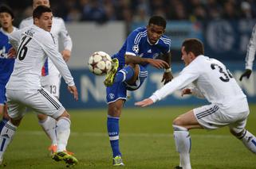
<instances>
[{"instance_id":1,"label":"white shorts of the crouching player at right","mask_svg":"<svg viewBox=\"0 0 256 169\"><path fill-rule=\"evenodd\" d=\"M201 106L193 109L195 117L205 129L218 129L228 125L235 133L242 132L246 127L249 110L244 112L229 112L216 105Z\"/></svg>"}]
</instances>

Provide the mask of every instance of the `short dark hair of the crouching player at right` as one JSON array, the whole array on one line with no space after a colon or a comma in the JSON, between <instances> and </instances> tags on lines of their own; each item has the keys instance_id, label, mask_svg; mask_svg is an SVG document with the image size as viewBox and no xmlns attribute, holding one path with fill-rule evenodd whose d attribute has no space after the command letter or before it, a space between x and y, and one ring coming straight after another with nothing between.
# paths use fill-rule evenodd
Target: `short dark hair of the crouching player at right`
<instances>
[{"instance_id":1,"label":"short dark hair of the crouching player at right","mask_svg":"<svg viewBox=\"0 0 256 169\"><path fill-rule=\"evenodd\" d=\"M185 51L194 53L195 56L204 55L203 43L196 38L189 38L183 41L182 44Z\"/></svg>"}]
</instances>

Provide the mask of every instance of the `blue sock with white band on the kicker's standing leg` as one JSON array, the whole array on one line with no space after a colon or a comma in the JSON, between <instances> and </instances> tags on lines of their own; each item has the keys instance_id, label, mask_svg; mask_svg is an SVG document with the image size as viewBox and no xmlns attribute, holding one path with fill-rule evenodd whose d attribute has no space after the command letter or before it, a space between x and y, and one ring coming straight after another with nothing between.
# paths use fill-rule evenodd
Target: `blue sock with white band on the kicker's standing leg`
<instances>
[{"instance_id":1,"label":"blue sock with white band on the kicker's standing leg","mask_svg":"<svg viewBox=\"0 0 256 169\"><path fill-rule=\"evenodd\" d=\"M113 157L121 156L119 149L119 117L108 116L107 127Z\"/></svg>"}]
</instances>

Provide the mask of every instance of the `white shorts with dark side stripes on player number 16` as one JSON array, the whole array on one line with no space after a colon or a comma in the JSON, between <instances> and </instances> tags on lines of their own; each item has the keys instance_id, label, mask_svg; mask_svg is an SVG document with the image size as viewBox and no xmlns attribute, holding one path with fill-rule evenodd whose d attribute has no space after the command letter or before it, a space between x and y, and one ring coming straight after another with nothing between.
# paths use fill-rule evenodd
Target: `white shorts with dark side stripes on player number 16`
<instances>
[{"instance_id":1,"label":"white shorts with dark side stripes on player number 16","mask_svg":"<svg viewBox=\"0 0 256 169\"><path fill-rule=\"evenodd\" d=\"M53 118L60 117L65 111L61 102L47 90L6 90L8 114L14 120L21 119L30 107L37 113L43 113Z\"/></svg>"}]
</instances>

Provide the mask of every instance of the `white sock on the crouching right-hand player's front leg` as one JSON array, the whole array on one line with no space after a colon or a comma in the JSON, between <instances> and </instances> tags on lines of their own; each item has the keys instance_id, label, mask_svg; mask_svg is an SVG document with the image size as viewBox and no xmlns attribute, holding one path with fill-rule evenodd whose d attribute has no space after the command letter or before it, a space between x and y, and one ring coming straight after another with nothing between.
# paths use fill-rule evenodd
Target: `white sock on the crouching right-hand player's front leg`
<instances>
[{"instance_id":1,"label":"white sock on the crouching right-hand player's front leg","mask_svg":"<svg viewBox=\"0 0 256 169\"><path fill-rule=\"evenodd\" d=\"M179 125L172 125L174 128L174 139L176 150L179 152L179 167L183 169L191 169L190 150L191 136L186 128Z\"/></svg>"}]
</instances>

